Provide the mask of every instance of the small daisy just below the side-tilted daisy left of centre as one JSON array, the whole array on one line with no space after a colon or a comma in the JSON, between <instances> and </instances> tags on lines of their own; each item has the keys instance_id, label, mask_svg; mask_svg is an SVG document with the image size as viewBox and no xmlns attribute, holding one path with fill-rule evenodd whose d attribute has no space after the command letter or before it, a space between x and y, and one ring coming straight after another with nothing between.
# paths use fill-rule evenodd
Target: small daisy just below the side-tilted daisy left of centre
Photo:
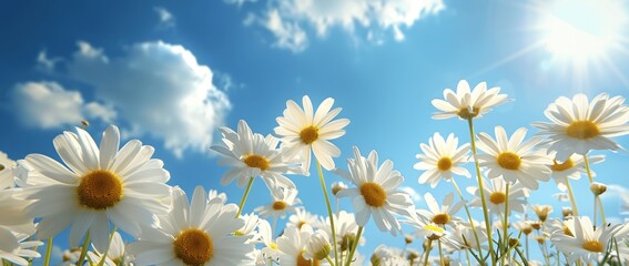
<instances>
[{"instance_id":1,"label":"small daisy just below the side-tilted daisy left of centre","mask_svg":"<svg viewBox=\"0 0 629 266\"><path fill-rule=\"evenodd\" d=\"M280 186L271 187L271 197L273 202L256 207L254 212L258 213L261 217L286 217L288 213L295 213L297 204L302 201L297 198L297 190L284 188Z\"/></svg>"}]
</instances>

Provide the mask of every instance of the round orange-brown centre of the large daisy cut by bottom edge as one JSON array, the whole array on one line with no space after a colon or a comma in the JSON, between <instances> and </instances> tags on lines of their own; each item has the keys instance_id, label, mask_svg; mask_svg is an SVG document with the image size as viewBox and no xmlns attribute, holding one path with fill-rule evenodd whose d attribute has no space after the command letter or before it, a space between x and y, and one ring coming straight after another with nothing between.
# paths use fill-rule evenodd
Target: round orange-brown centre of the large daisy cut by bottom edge
<instances>
[{"instance_id":1,"label":"round orange-brown centre of the large daisy cut by bottom edge","mask_svg":"<svg viewBox=\"0 0 629 266\"><path fill-rule=\"evenodd\" d=\"M176 257L185 265L203 265L214 255L212 238L205 232L196 228L181 232L173 245Z\"/></svg>"}]
</instances>

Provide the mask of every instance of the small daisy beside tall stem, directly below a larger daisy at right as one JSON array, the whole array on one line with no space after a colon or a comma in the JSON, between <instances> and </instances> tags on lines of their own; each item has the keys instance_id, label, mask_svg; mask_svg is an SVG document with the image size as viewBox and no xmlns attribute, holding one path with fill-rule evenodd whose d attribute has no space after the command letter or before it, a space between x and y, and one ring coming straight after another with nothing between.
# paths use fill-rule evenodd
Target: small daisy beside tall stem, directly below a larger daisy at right
<instances>
[{"instance_id":1,"label":"small daisy beside tall stem, directly below a larger daisy at right","mask_svg":"<svg viewBox=\"0 0 629 266\"><path fill-rule=\"evenodd\" d=\"M505 213L505 202L509 200L509 212L515 211L518 213L526 212L526 197L529 196L528 191L517 182L509 185L509 195L507 195L507 182L501 178L491 180L487 183L483 180L483 190L485 190L485 202L490 213L503 214ZM481 207L480 192L476 186L467 187L467 192L475 197L469 202L470 206Z\"/></svg>"}]
</instances>

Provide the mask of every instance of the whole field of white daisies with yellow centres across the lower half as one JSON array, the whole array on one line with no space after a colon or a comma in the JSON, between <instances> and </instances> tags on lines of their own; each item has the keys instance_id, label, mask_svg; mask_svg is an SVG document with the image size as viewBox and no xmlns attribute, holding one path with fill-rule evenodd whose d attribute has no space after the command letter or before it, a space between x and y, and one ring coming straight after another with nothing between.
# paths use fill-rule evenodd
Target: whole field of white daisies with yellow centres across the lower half
<instances>
[{"instance_id":1,"label":"whole field of white daisies with yellow centres across the lower half","mask_svg":"<svg viewBox=\"0 0 629 266\"><path fill-rule=\"evenodd\" d=\"M444 198L426 193L428 209L399 188L404 177L377 151L355 146L353 154L341 154L333 142L349 120L339 117L329 98L317 106L308 96L288 100L274 134L255 133L245 121L221 129L222 143L212 146L229 168L221 184L242 187L242 197L229 200L202 186L185 192L169 184L169 171L152 157L154 147L121 143L115 125L100 136L79 127L63 132L52 140L57 155L33 151L2 162L0 258L2 265L34 258L49 265L55 236L69 228L65 265L629 264L629 225L606 221L599 196L611 184L595 182L591 168L605 164L591 151L622 149L612 137L629 134L625 99L561 96L544 111L548 121L532 123L535 133L500 125L475 132L475 121L508 101L499 88L466 81L432 101L436 124L459 120L468 131L436 132L420 145L418 191L452 191ZM347 164L335 163L338 157ZM327 213L298 206L292 178L300 175L318 178ZM329 175L345 182L328 183ZM591 216L579 214L572 193L570 183L581 177L589 180L591 194L580 198L594 198ZM476 185L461 190L460 178ZM527 201L550 180L569 197L561 211ZM254 182L263 182L273 201L242 213L257 204L247 201ZM338 209L337 201L352 207ZM473 217L471 208L484 215ZM552 212L562 218L551 218ZM282 219L287 222L280 227ZM366 226L369 221L375 227ZM406 246L363 250L366 241L377 242L366 239L366 231L398 236ZM534 248L541 255L529 255Z\"/></svg>"}]
</instances>

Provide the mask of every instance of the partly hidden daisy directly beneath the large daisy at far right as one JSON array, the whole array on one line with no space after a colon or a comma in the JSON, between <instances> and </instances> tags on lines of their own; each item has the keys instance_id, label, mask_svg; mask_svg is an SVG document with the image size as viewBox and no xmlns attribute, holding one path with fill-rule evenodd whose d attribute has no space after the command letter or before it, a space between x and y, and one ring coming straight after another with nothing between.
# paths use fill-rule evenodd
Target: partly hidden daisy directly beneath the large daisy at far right
<instances>
[{"instance_id":1,"label":"partly hidden daisy directly beneath the large daisy at far right","mask_svg":"<svg viewBox=\"0 0 629 266\"><path fill-rule=\"evenodd\" d=\"M549 157L552 158L552 164L550 165L550 170L552 172L550 177L552 177L555 183L557 183L557 188L559 188L559 191L565 192L568 188L566 178L579 180L581 178L581 173L587 173L585 160L581 155L572 154L566 161L558 161L555 157L555 152L551 152ZM588 155L588 162L590 164L600 163L602 161L605 161L603 155ZM592 173L592 175L596 174Z\"/></svg>"}]
</instances>

